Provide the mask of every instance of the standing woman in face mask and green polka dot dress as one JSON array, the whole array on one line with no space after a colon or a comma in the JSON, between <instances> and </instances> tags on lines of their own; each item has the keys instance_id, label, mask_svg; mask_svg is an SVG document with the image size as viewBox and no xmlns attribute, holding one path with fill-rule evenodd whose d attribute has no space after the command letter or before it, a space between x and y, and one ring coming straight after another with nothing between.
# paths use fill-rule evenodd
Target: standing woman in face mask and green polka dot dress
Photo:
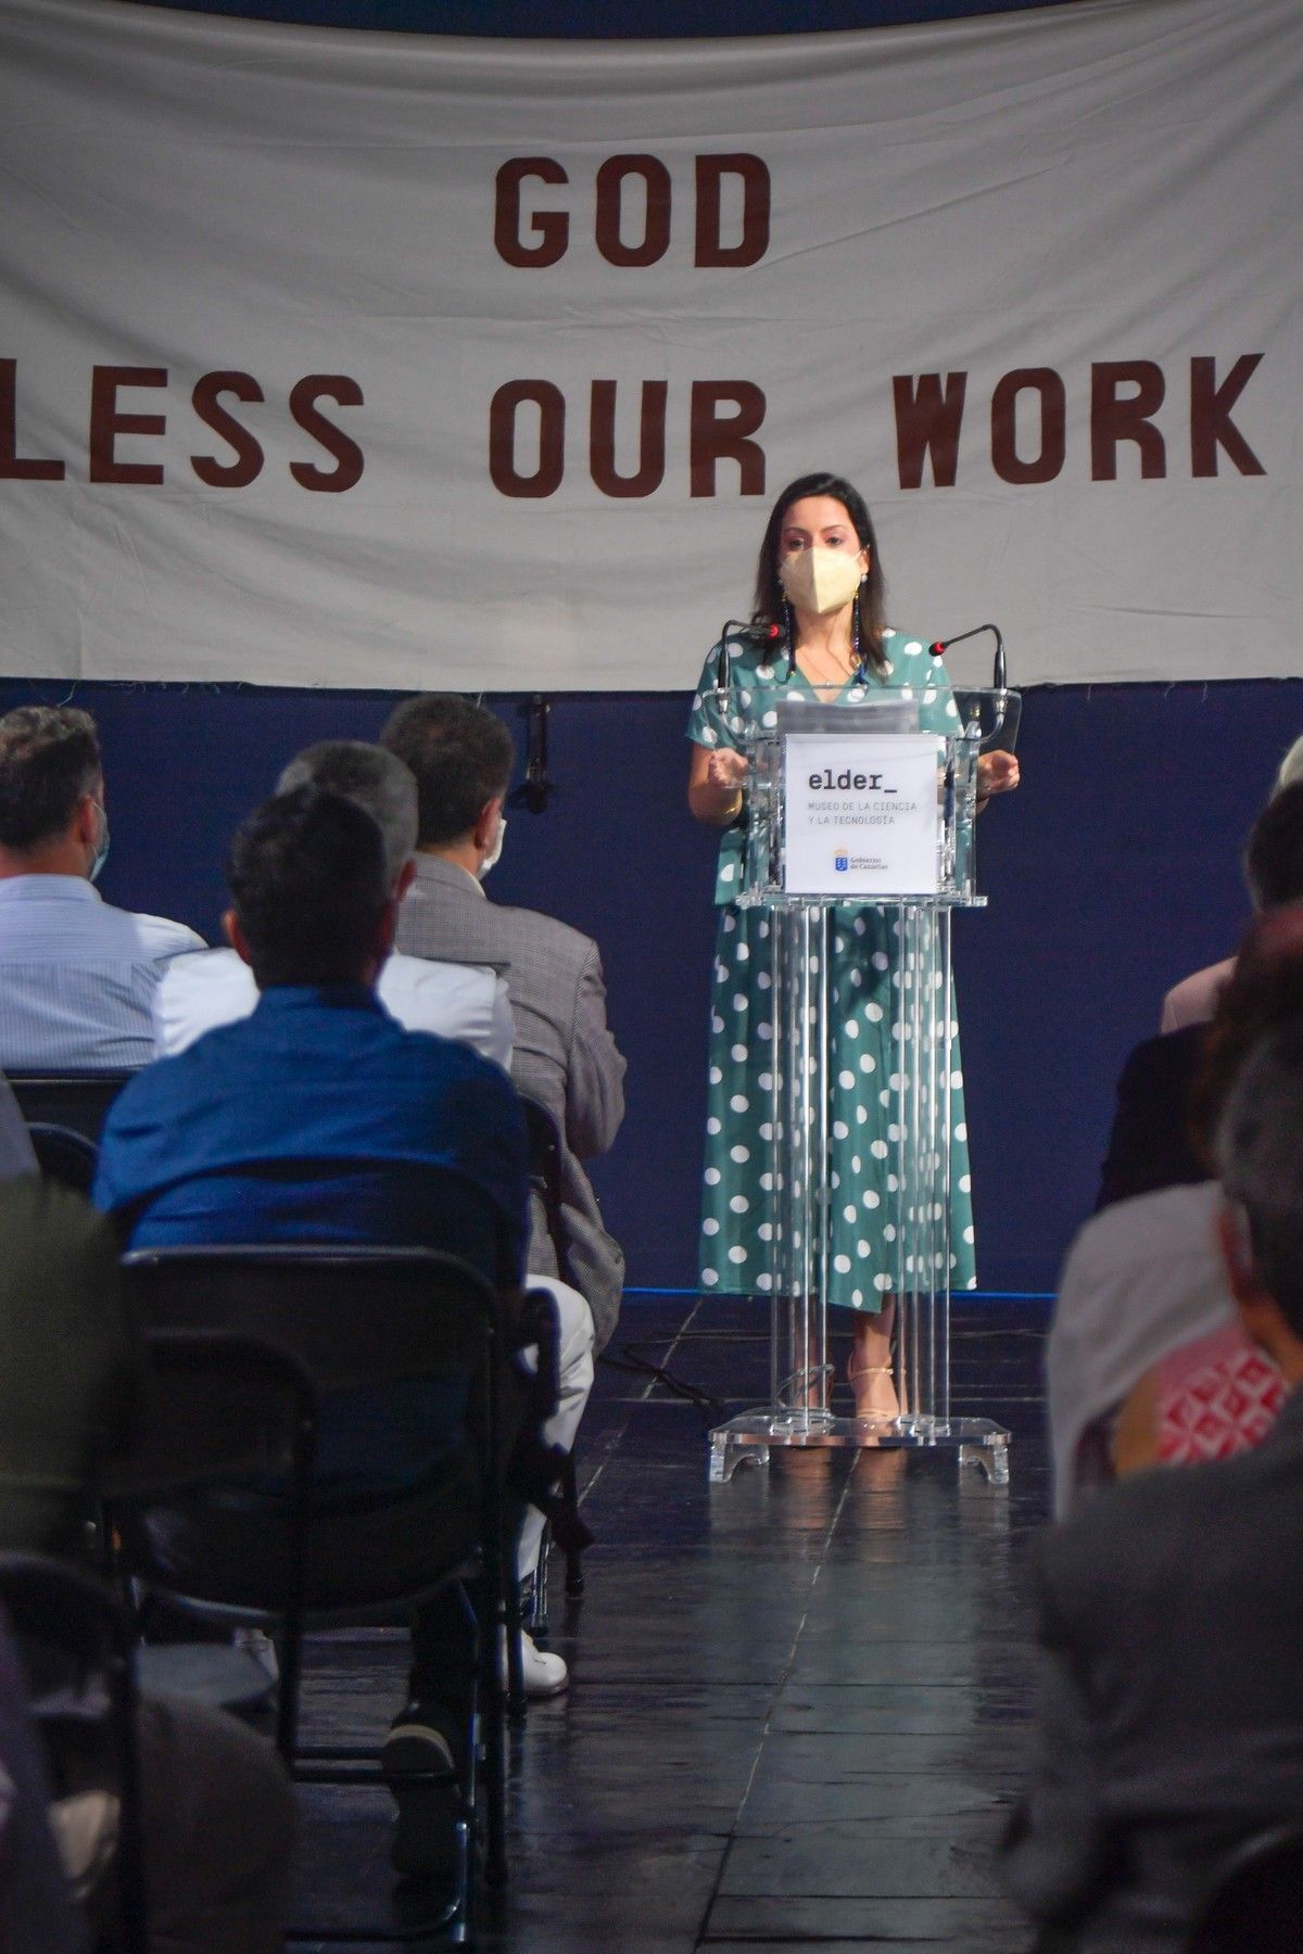
<instances>
[{"instance_id":1,"label":"standing woman in face mask and green polka dot dress","mask_svg":"<svg viewBox=\"0 0 1303 1954\"><path fill-rule=\"evenodd\" d=\"M723 639L705 660L688 737L688 805L723 828L715 903L719 932L711 993L709 1110L701 1284L713 1294L768 1288L772 1249L768 1118L772 1063L770 924L738 909L744 864L746 721L774 725L781 700L854 703L895 688L918 701L924 733L957 725L949 678L926 643L893 631L863 496L836 475L803 475L774 504L760 563L752 629ZM719 700L731 686L731 709ZM766 717L768 715L768 717ZM1018 786L1012 754L979 760L979 805ZM881 913L842 903L830 916L828 1079L830 1233L828 1301L854 1311L850 1381L858 1417L895 1417L891 1372L895 1296L889 1200L891 1075L899 1049L901 987ZM957 1061L957 1045L955 1045ZM951 1282L977 1282L963 1086L951 1092Z\"/></svg>"}]
</instances>

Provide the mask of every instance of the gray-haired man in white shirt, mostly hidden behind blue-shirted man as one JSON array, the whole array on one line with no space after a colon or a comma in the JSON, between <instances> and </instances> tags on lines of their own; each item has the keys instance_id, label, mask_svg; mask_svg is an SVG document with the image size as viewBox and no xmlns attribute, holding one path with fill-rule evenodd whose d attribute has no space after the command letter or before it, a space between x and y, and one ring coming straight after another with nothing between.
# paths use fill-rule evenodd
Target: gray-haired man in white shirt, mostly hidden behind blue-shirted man
<instances>
[{"instance_id":1,"label":"gray-haired man in white shirt, mostly hidden behind blue-shirted man","mask_svg":"<svg viewBox=\"0 0 1303 1954\"><path fill-rule=\"evenodd\" d=\"M275 784L277 793L291 793L295 787L342 793L371 815L385 836L393 893L402 899L416 873L416 782L402 762L363 741L320 741L291 760ZM510 1067L512 1006L504 981L492 969L393 952L375 991L408 1032L455 1038L496 1065ZM176 957L154 993L160 1057L184 1051L217 1024L248 1018L256 1002L254 973L234 950Z\"/></svg>"}]
</instances>

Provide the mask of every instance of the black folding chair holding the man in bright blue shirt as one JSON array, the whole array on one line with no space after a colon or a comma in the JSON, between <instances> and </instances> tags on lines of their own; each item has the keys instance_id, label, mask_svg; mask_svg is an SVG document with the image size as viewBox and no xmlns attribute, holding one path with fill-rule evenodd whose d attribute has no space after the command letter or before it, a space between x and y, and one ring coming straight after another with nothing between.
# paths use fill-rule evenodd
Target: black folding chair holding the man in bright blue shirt
<instances>
[{"instance_id":1,"label":"black folding chair holding the man in bright blue shirt","mask_svg":"<svg viewBox=\"0 0 1303 1954\"><path fill-rule=\"evenodd\" d=\"M416 1610L449 1583L471 1598L477 1628L475 1723L484 1770L484 1878L506 1880L506 1745L504 1692L498 1639L508 1645L518 1630L518 1598L508 1571L504 1538L506 1399L512 1391L508 1362L514 1337L492 1286L469 1264L420 1249L352 1247L219 1247L137 1251L123 1270L143 1321L172 1331L221 1329L273 1344L293 1360L315 1411L305 1401L303 1426L289 1477L268 1475L256 1487L209 1485L178 1501L162 1491L158 1432L172 1430L186 1448L184 1423L176 1426L158 1405L148 1471L158 1493L115 1501L111 1520L121 1538L125 1571L148 1593L207 1620L270 1630L279 1649L277 1741L299 1780L326 1784L383 1782L375 1755L361 1749L305 1747L297 1741L297 1698L305 1628L326 1630L367 1622L389 1624L395 1614ZM408 1567L387 1567L385 1524L404 1495L377 1493L350 1501L348 1520L330 1510L315 1485L315 1421L336 1391L383 1387L410 1380L469 1378L471 1411L467 1444L441 1466L447 1499L447 1536L428 1542L420 1577ZM211 1434L221 1446L229 1415L213 1405L207 1417L182 1403L182 1421L193 1419L195 1438ZM309 1432L309 1424L313 1432ZM168 1440L168 1442L172 1442ZM211 1462L209 1462L211 1464ZM193 1462L191 1483L205 1477ZM426 1489L428 1491L428 1489ZM426 1497L426 1493L422 1493ZM178 1565L178 1522L188 1550ZM356 1553L340 1567L338 1530L348 1524ZM318 1530L336 1546L326 1561L315 1553ZM250 1538L264 1551L242 1551ZM195 1553L197 1544L197 1553ZM479 1802L477 1743L467 1743L463 1792L463 1868L457 1891L438 1921L412 1927L367 1927L363 1936L414 1940L447 1925L453 1940L469 1934L473 1903L471 1823ZM357 1940L359 1931L305 1929L309 1940Z\"/></svg>"}]
</instances>

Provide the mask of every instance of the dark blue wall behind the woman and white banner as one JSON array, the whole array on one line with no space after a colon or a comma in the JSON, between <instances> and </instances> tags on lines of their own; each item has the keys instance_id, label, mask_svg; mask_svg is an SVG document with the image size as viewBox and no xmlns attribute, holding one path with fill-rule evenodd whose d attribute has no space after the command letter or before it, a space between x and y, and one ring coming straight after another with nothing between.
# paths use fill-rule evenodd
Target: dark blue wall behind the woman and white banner
<instances>
[{"instance_id":1,"label":"dark blue wall behind the woman and white banner","mask_svg":"<svg viewBox=\"0 0 1303 1954\"><path fill-rule=\"evenodd\" d=\"M195 12L334 27L498 35L725 35L873 27L990 12L987 0L182 0ZM1020 0L1006 0L1012 12ZM1069 0L1063 0L1069 4ZM865 485L871 488L871 485ZM363 647L359 647L359 653ZM432 647L432 688L438 647ZM66 690L0 682L0 707ZM111 901L215 938L221 858L285 758L369 739L393 698L86 684L109 774ZM520 701L494 700L524 735ZM686 696L570 696L553 711L559 791L514 813L492 893L604 948L629 1055L629 1118L596 1180L629 1280L695 1282L713 840L684 805ZM1225 956L1246 920L1244 832L1303 729L1303 682L1037 688L1024 789L981 825L990 907L955 926L979 1276L1053 1288L1094 1198L1117 1067L1162 991ZM524 741L520 741L524 744Z\"/></svg>"}]
</instances>

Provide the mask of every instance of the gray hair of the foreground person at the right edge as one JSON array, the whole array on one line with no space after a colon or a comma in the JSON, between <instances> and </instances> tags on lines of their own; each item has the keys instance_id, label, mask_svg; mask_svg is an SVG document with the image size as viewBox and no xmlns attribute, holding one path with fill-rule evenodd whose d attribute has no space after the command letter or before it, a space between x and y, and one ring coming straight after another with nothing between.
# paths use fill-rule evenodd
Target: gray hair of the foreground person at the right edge
<instances>
[{"instance_id":1,"label":"gray hair of the foreground person at the right edge","mask_svg":"<svg viewBox=\"0 0 1303 1954\"><path fill-rule=\"evenodd\" d=\"M1221 1182L1248 1217L1258 1276L1303 1335L1303 1018L1252 1047L1213 1141Z\"/></svg>"}]
</instances>

